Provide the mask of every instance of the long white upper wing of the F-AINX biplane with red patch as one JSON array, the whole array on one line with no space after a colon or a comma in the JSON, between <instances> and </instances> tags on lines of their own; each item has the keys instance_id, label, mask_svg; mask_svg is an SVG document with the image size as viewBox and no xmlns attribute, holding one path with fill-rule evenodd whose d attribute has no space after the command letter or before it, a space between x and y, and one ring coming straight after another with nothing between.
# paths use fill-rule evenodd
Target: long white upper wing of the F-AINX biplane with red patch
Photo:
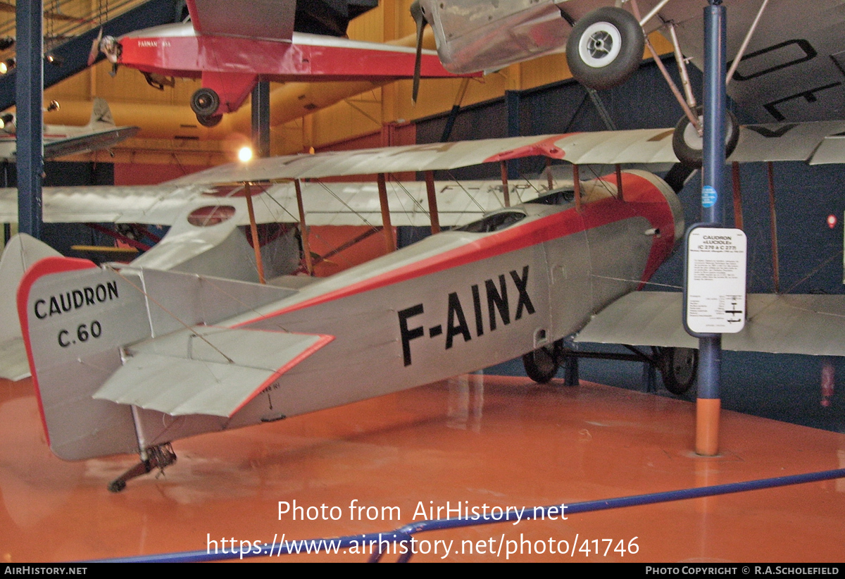
<instances>
[{"instance_id":1,"label":"long white upper wing of the F-AINX biplane with red patch","mask_svg":"<svg viewBox=\"0 0 845 579\"><path fill-rule=\"evenodd\" d=\"M843 131L843 121L748 125L740 128L739 145L728 161L813 162L813 153L824 139ZM171 183L210 185L441 171L525 156L548 156L579 165L675 163L673 132L673 128L643 128L287 155L212 167Z\"/></svg>"}]
</instances>

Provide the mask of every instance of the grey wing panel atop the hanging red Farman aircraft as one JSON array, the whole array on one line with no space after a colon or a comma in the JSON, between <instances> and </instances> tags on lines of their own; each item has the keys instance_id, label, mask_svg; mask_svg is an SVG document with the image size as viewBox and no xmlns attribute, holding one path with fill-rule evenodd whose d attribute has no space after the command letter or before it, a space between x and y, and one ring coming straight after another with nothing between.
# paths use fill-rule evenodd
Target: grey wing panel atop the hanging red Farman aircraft
<instances>
[{"instance_id":1,"label":"grey wing panel atop the hanging red Farman aircraft","mask_svg":"<svg viewBox=\"0 0 845 579\"><path fill-rule=\"evenodd\" d=\"M296 0L187 0L200 34L289 41Z\"/></svg>"}]
</instances>

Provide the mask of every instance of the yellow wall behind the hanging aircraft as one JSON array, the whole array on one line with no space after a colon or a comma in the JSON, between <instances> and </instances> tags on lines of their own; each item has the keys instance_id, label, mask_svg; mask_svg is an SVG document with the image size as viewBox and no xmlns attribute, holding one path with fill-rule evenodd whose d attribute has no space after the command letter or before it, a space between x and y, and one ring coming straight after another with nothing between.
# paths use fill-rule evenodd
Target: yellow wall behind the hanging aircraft
<instances>
[{"instance_id":1,"label":"yellow wall behind the hanging aircraft","mask_svg":"<svg viewBox=\"0 0 845 579\"><path fill-rule=\"evenodd\" d=\"M409 8L412 0L382 0L375 8L349 25L349 36L363 41L396 41L412 45L415 25ZM96 5L97 0L79 0L79 9ZM63 4L63 8L64 8ZM658 52L667 52L668 43L659 35L652 35ZM433 35L428 30L426 46L433 48ZM93 96L102 96L112 106L117 124L137 124L142 128L139 138L130 139L116 148L116 159L143 157L144 162L195 164L198 161L223 162L228 151L249 134L248 104L231 115L221 125L208 129L199 127L188 101L199 81L176 79L175 87L155 90L135 70L120 68L112 78L111 64L102 62L71 79L45 91L45 101L59 101L63 107L47 113L46 123L84 124L90 114ZM570 78L563 54L537 58L515 64L479 79L471 79L461 105L497 98L504 90L525 90ZM321 146L349 139L358 134L377 130L383 123L414 120L449 111L461 90L461 79L423 79L416 106L411 101L412 81L403 80L378 86L358 83L357 96L344 83L288 83L271 84L273 128L271 153L275 155L300 152L309 146ZM354 92L354 91L352 91ZM313 102L334 105L304 117L297 103ZM307 98L305 98L307 97ZM235 136L232 136L235 135Z\"/></svg>"}]
</instances>

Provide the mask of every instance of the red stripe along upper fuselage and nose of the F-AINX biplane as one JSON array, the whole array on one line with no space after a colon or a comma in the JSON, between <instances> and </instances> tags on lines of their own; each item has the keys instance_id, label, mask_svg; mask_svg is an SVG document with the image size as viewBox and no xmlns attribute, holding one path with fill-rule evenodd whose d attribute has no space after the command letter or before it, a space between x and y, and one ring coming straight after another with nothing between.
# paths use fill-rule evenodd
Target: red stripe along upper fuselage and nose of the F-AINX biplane
<instances>
[{"instance_id":1,"label":"red stripe along upper fuselage and nose of the F-AINX biplane","mask_svg":"<svg viewBox=\"0 0 845 579\"><path fill-rule=\"evenodd\" d=\"M412 280L421 276L449 270L461 265L471 264L482 259L507 254L518 249L525 249L538 243L563 238L573 233L584 232L593 227L608 225L629 217L643 216L652 227L669 227L674 232L672 210L666 198L657 187L647 179L630 173L623 173L625 200L614 198L600 199L585 205L579 214L575 208L560 211L523 225L515 225L501 232L485 235L460 248L450 249L443 254L421 259L416 263L398 267L349 286L309 298L300 303L277 310L271 314L248 320L234 327L243 327L259 320L267 320L281 314L309 308L320 303L327 303L340 298L369 292L379 287L390 286L401 281ZM646 271L653 272L662 259L671 252L673 235L655 239L652 243ZM655 262L657 264L655 265ZM651 275L651 274L649 274ZM644 276L645 277L645 276ZM645 281L645 280L644 280Z\"/></svg>"}]
</instances>

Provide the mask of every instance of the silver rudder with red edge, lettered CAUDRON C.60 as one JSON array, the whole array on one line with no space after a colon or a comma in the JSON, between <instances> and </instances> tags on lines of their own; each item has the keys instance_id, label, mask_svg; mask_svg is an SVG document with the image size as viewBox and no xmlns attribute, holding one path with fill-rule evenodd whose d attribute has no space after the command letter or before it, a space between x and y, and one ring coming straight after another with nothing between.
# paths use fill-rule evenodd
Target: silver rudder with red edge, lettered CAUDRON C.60
<instances>
[{"instance_id":1,"label":"silver rudder with red edge, lettered CAUDRON C.60","mask_svg":"<svg viewBox=\"0 0 845 579\"><path fill-rule=\"evenodd\" d=\"M139 451L132 408L91 396L121 366L124 344L150 336L144 296L86 259L28 270L18 314L47 442L65 460Z\"/></svg>"}]
</instances>

